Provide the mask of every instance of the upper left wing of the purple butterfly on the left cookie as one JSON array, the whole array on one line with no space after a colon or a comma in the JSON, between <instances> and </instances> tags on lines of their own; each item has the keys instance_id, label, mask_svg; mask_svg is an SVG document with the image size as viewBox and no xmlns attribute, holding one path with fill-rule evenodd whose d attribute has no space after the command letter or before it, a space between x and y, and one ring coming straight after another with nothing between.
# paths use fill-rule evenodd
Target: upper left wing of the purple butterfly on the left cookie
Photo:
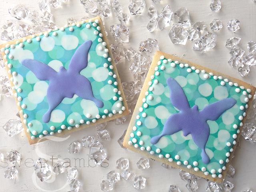
<instances>
[{"instance_id":1,"label":"upper left wing of the purple butterfly on the left cookie","mask_svg":"<svg viewBox=\"0 0 256 192\"><path fill-rule=\"evenodd\" d=\"M39 80L50 80L57 74L53 68L37 60L24 59L21 63L32 71Z\"/></svg>"}]
</instances>

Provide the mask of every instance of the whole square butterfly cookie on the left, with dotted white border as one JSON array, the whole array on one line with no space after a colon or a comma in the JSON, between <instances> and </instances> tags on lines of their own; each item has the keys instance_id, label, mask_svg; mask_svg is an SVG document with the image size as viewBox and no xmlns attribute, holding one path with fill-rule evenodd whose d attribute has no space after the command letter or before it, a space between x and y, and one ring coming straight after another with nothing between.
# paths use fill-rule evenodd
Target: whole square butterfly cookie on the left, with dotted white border
<instances>
[{"instance_id":1,"label":"whole square butterfly cookie on the left, with dotted white border","mask_svg":"<svg viewBox=\"0 0 256 192\"><path fill-rule=\"evenodd\" d=\"M1 51L30 144L128 114L99 17L2 44Z\"/></svg>"}]
</instances>

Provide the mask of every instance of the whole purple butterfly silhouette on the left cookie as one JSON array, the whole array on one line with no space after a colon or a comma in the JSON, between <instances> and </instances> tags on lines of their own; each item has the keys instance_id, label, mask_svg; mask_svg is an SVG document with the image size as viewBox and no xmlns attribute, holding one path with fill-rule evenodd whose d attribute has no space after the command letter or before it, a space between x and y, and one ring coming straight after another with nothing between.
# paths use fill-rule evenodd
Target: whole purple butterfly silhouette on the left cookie
<instances>
[{"instance_id":1,"label":"whole purple butterfly silhouette on the left cookie","mask_svg":"<svg viewBox=\"0 0 256 192\"><path fill-rule=\"evenodd\" d=\"M94 97L90 81L80 74L80 71L86 68L88 64L88 52L91 46L91 40L79 46L70 60L68 70L61 66L59 72L40 61L32 59L22 61L22 65L31 70L39 80L49 80L47 89L49 109L42 118L43 122L48 123L52 110L65 97L72 98L74 94L83 99L92 100L99 108L103 107L103 102Z\"/></svg>"}]
</instances>

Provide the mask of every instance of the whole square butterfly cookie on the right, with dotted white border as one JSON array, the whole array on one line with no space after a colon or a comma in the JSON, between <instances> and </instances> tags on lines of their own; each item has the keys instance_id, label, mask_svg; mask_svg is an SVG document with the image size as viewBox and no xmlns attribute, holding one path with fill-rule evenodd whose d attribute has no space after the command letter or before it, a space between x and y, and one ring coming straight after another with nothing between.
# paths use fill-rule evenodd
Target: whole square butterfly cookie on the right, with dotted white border
<instances>
[{"instance_id":1,"label":"whole square butterfly cookie on the right, with dotted white border","mask_svg":"<svg viewBox=\"0 0 256 192\"><path fill-rule=\"evenodd\" d=\"M254 93L241 80L156 52L123 145L221 182Z\"/></svg>"}]
</instances>

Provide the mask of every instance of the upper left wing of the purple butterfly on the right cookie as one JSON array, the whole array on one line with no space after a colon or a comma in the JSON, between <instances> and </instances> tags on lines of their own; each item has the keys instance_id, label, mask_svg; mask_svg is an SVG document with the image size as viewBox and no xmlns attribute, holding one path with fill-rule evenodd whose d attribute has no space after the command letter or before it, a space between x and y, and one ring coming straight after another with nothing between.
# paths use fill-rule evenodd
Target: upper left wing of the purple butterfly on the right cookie
<instances>
[{"instance_id":1,"label":"upper left wing of the purple butterfly on the right cookie","mask_svg":"<svg viewBox=\"0 0 256 192\"><path fill-rule=\"evenodd\" d=\"M174 107L179 110L184 110L190 108L188 99L178 82L174 78L168 78L166 83L170 91L170 100Z\"/></svg>"}]
</instances>

